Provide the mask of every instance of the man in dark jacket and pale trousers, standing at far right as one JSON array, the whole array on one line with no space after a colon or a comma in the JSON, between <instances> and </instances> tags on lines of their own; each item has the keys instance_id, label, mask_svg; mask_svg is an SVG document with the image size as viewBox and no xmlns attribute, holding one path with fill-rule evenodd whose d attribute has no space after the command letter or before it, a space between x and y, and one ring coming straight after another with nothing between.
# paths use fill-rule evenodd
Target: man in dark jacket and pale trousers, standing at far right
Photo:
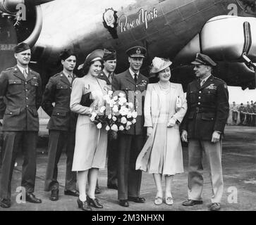
<instances>
[{"instance_id":1,"label":"man in dark jacket and pale trousers, standing at far right","mask_svg":"<svg viewBox=\"0 0 256 225\"><path fill-rule=\"evenodd\" d=\"M181 139L188 141L188 200L185 206L202 204L202 153L209 162L212 181L210 210L220 210L223 193L221 167L221 136L228 119L228 89L226 83L212 75L214 61L197 53L194 71L198 78L188 84L188 111L181 124Z\"/></svg>"}]
</instances>

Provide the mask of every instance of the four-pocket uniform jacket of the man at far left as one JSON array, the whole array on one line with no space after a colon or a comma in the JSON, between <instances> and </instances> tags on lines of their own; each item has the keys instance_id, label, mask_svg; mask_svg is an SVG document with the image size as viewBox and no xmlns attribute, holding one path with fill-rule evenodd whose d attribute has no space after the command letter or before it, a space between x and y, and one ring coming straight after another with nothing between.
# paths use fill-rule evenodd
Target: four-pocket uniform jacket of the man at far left
<instances>
[{"instance_id":1,"label":"four-pocket uniform jacket of the man at far left","mask_svg":"<svg viewBox=\"0 0 256 225\"><path fill-rule=\"evenodd\" d=\"M38 131L37 110L42 102L40 75L28 69L28 77L17 66L0 74L0 117L3 131Z\"/></svg>"}]
</instances>

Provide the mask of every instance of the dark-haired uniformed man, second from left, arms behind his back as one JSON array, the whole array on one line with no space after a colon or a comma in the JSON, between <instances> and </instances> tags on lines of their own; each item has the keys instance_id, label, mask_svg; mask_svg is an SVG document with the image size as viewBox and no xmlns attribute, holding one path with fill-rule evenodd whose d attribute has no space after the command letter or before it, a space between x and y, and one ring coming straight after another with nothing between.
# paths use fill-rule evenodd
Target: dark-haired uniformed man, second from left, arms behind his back
<instances>
[{"instance_id":1,"label":"dark-haired uniformed man, second from left, arms behind his back","mask_svg":"<svg viewBox=\"0 0 256 225\"><path fill-rule=\"evenodd\" d=\"M44 191L51 191L50 200L59 199L58 162L61 152L66 148L66 183L65 195L79 196L76 191L76 173L72 172L75 148L75 126L77 115L71 112L71 88L75 74L76 56L70 50L60 54L63 71L49 79L43 95L42 108L51 117L49 129L48 164ZM55 103L55 105L52 105Z\"/></svg>"}]
</instances>

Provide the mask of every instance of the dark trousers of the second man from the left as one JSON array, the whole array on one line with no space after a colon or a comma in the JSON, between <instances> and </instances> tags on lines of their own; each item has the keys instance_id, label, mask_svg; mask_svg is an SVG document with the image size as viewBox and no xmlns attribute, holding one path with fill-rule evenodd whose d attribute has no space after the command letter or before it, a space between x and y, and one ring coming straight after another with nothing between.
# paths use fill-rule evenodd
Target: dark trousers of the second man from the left
<instances>
[{"instance_id":1,"label":"dark trousers of the second man from the left","mask_svg":"<svg viewBox=\"0 0 256 225\"><path fill-rule=\"evenodd\" d=\"M66 190L76 190L76 172L72 172L75 149L75 132L49 130L48 163L44 191L59 189L58 163L62 150L66 148Z\"/></svg>"}]
</instances>

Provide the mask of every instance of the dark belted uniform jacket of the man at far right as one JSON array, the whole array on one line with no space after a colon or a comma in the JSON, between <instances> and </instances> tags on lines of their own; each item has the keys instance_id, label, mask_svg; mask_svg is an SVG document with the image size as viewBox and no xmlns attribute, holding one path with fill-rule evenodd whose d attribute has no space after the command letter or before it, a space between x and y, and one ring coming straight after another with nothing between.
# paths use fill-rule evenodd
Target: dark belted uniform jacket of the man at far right
<instances>
[{"instance_id":1,"label":"dark belted uniform jacket of the man at far right","mask_svg":"<svg viewBox=\"0 0 256 225\"><path fill-rule=\"evenodd\" d=\"M224 133L228 119L228 89L226 83L210 76L205 84L195 80L188 84L188 110L181 129L188 131L188 139L212 140L212 133Z\"/></svg>"}]
</instances>

